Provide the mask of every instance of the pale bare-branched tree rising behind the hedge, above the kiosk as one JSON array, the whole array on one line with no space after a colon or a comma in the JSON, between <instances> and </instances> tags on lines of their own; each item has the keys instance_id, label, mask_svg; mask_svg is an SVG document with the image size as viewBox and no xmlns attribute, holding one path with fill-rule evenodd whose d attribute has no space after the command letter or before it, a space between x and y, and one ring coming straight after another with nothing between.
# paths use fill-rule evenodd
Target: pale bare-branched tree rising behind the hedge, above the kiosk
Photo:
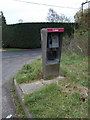
<instances>
[{"instance_id":1,"label":"pale bare-branched tree rising behind the hedge, above the kiosk","mask_svg":"<svg viewBox=\"0 0 90 120\"><path fill-rule=\"evenodd\" d=\"M64 14L57 14L53 9L49 9L49 13L47 15L47 20L50 22L70 22L70 19L67 18Z\"/></svg>"}]
</instances>

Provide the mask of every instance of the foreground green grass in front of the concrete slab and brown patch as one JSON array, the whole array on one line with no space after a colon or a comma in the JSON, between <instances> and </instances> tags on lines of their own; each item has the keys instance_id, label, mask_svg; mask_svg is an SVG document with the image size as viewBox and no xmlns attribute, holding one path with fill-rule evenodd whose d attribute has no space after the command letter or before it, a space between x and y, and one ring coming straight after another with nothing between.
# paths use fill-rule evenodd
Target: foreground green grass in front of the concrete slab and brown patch
<instances>
[{"instance_id":1,"label":"foreground green grass in front of the concrete slab and brown patch","mask_svg":"<svg viewBox=\"0 0 90 120\"><path fill-rule=\"evenodd\" d=\"M81 100L79 92L63 91L57 84L48 85L33 94L25 96L25 105L33 118L87 118L88 101Z\"/></svg>"}]
</instances>

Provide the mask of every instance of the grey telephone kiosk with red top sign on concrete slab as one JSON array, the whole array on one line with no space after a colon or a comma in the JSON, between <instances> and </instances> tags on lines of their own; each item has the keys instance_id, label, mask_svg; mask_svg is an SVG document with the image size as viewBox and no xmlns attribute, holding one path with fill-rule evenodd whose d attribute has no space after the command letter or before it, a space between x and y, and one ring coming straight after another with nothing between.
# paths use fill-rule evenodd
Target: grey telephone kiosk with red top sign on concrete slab
<instances>
[{"instance_id":1,"label":"grey telephone kiosk with red top sign on concrete slab","mask_svg":"<svg viewBox=\"0 0 90 120\"><path fill-rule=\"evenodd\" d=\"M43 79L59 75L64 28L41 29Z\"/></svg>"}]
</instances>

